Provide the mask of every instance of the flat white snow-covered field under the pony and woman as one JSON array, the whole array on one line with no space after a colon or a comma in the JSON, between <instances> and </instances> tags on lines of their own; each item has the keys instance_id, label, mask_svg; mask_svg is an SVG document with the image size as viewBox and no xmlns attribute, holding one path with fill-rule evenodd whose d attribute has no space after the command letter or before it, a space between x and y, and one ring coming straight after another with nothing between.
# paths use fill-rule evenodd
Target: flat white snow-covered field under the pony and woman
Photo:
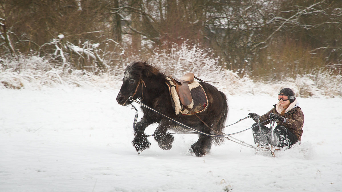
<instances>
[{"instance_id":1,"label":"flat white snow-covered field under the pony and woman","mask_svg":"<svg viewBox=\"0 0 342 192\"><path fill-rule=\"evenodd\" d=\"M174 135L169 151L149 137L151 147L138 155L131 144L135 112L117 104L117 93L66 86L0 89L0 191L342 190L342 98L298 98L305 115L302 144L276 157L228 140L195 157L188 149L197 135ZM250 112L264 114L277 101L269 95L226 94L226 124ZM224 132L253 122L244 120ZM234 137L253 143L250 130Z\"/></svg>"}]
</instances>

